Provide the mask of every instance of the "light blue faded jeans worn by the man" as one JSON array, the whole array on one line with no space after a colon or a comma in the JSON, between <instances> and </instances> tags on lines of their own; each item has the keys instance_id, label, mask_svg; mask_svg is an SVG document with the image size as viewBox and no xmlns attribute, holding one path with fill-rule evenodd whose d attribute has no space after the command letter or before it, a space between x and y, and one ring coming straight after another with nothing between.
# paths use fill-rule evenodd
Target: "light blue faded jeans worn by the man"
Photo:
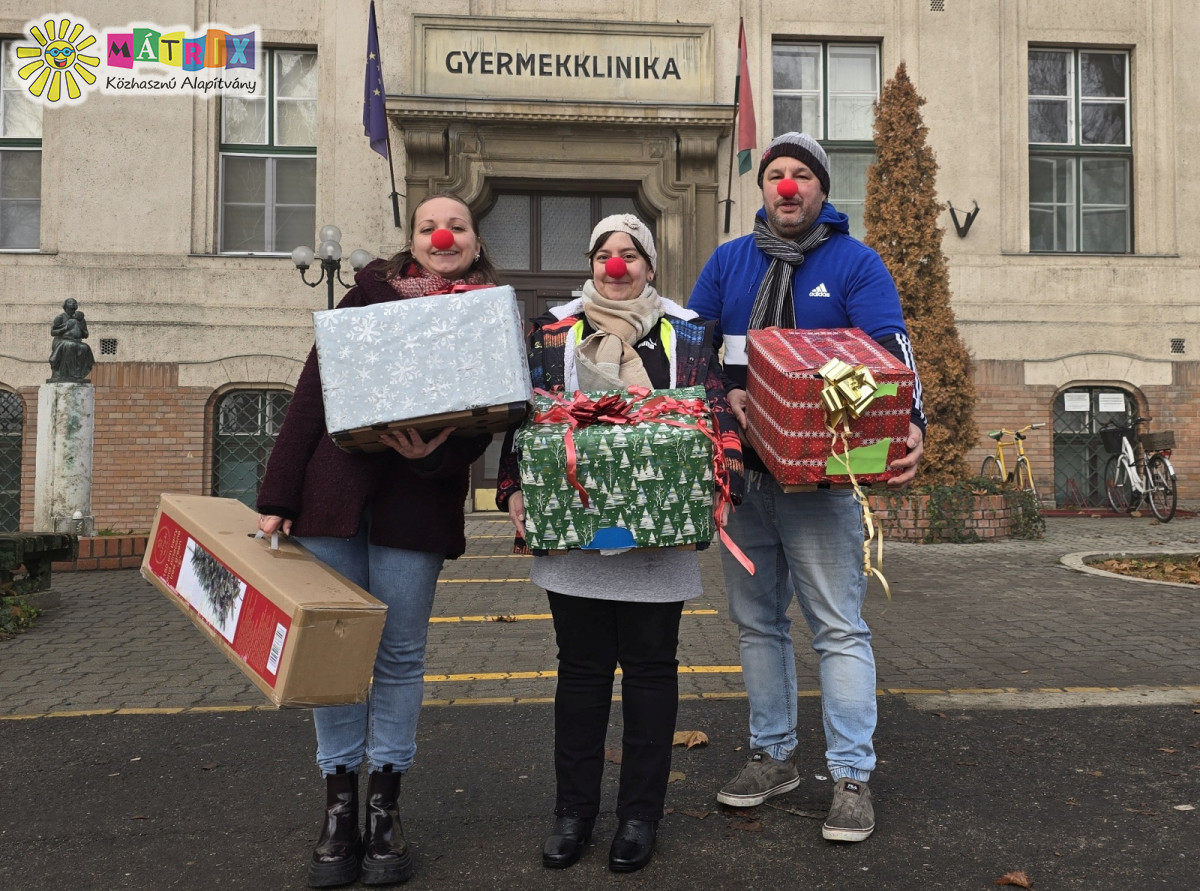
<instances>
[{"instance_id":1,"label":"light blue faded jeans worn by the man","mask_svg":"<svg viewBox=\"0 0 1200 891\"><path fill-rule=\"evenodd\" d=\"M721 549L730 617L740 629L750 746L784 759L797 745L787 617L794 596L820 657L829 773L866 782L875 767L876 702L871 632L863 621L862 508L848 490L785 494L770 474L749 471L727 532L756 569L750 575Z\"/></svg>"}]
</instances>

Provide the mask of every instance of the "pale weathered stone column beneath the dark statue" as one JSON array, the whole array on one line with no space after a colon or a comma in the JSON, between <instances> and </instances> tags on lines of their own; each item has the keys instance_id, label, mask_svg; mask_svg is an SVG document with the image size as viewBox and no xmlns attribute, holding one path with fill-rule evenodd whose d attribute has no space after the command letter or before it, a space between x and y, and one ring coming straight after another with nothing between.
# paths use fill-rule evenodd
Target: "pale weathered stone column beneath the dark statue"
<instances>
[{"instance_id":1,"label":"pale weathered stone column beneath the dark statue","mask_svg":"<svg viewBox=\"0 0 1200 891\"><path fill-rule=\"evenodd\" d=\"M89 383L44 383L37 390L34 531L91 536L91 455L96 391Z\"/></svg>"}]
</instances>

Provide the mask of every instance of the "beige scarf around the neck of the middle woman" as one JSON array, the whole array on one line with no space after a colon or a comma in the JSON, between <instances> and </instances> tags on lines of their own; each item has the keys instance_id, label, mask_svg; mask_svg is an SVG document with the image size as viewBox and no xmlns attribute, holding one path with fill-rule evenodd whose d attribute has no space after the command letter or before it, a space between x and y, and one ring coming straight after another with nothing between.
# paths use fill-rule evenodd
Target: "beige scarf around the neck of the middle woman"
<instances>
[{"instance_id":1,"label":"beige scarf around the neck of the middle woman","mask_svg":"<svg viewBox=\"0 0 1200 891\"><path fill-rule=\"evenodd\" d=\"M649 285L632 300L601 297L589 279L583 283L583 315L595 328L575 348L581 390L623 390L652 387L634 345L662 318L659 292Z\"/></svg>"}]
</instances>

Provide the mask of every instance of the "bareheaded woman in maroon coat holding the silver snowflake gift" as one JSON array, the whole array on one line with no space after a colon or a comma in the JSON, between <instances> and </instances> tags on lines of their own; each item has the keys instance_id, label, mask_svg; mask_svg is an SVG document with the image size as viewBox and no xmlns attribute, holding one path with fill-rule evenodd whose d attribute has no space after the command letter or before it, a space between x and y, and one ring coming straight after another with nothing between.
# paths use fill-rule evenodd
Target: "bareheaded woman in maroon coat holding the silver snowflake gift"
<instances>
[{"instance_id":1,"label":"bareheaded woman in maroon coat holding the silver snowflake gift","mask_svg":"<svg viewBox=\"0 0 1200 891\"><path fill-rule=\"evenodd\" d=\"M368 306L496 281L470 209L426 198L409 220L412 241L355 276L340 306ZM325 777L320 838L308 865L313 887L404 881L413 857L400 824L400 778L416 752L425 638L444 560L466 550L469 467L491 436L425 439L388 435L388 452L349 454L325 429L320 372L310 352L258 494L258 526L295 536L319 560L388 604L368 700L313 710L317 764ZM367 779L366 837L359 829L358 770Z\"/></svg>"}]
</instances>

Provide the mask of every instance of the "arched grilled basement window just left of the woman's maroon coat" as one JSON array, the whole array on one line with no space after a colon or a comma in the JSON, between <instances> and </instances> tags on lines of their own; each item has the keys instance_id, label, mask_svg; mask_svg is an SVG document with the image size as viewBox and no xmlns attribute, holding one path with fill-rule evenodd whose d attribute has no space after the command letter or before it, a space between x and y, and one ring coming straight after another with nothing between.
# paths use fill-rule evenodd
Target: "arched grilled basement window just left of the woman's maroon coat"
<instances>
[{"instance_id":1,"label":"arched grilled basement window just left of the woman's maroon coat","mask_svg":"<svg viewBox=\"0 0 1200 891\"><path fill-rule=\"evenodd\" d=\"M254 507L266 459L283 425L288 390L230 390L214 409L212 494Z\"/></svg>"}]
</instances>

